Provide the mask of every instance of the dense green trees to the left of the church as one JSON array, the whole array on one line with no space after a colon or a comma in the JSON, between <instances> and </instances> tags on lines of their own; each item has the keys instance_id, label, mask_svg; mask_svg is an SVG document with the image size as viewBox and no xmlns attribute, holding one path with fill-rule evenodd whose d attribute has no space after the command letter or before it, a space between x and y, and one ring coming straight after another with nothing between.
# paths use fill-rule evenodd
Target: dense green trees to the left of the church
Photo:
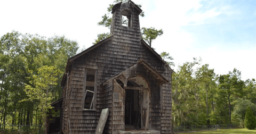
<instances>
[{"instance_id":1,"label":"dense green trees to the left of the church","mask_svg":"<svg viewBox=\"0 0 256 134\"><path fill-rule=\"evenodd\" d=\"M46 109L62 95L67 59L78 44L64 36L7 33L0 42L0 130L43 125Z\"/></svg>"}]
</instances>

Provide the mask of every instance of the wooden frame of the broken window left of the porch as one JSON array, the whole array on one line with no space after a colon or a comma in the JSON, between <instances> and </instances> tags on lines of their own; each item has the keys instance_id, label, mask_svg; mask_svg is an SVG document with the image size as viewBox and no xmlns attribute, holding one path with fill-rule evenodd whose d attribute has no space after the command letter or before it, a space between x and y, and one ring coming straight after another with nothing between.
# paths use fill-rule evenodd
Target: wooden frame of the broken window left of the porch
<instances>
[{"instance_id":1,"label":"wooden frame of the broken window left of the porch","mask_svg":"<svg viewBox=\"0 0 256 134\"><path fill-rule=\"evenodd\" d=\"M90 109L86 109L84 108L84 103L85 103L85 97L87 94L87 90L86 90L86 76L87 76L87 71L95 71L94 74L94 91L90 91L91 93L93 93L93 98L92 98L92 103L90 106ZM95 111L96 110L96 96L97 96L97 76L98 76L98 71L97 69L87 69L84 68L83 69L83 74L84 74L84 80L83 80L83 99L82 99L82 111ZM91 108L92 107L92 108Z\"/></svg>"}]
</instances>

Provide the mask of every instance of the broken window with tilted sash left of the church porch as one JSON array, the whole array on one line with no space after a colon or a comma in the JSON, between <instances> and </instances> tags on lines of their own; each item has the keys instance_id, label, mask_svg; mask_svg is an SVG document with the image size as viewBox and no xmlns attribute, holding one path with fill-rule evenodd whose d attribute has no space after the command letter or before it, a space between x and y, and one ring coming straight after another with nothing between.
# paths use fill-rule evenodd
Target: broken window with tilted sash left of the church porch
<instances>
[{"instance_id":1,"label":"broken window with tilted sash left of the church porch","mask_svg":"<svg viewBox=\"0 0 256 134\"><path fill-rule=\"evenodd\" d=\"M85 70L83 107L85 110L94 110L94 96L96 90L96 75L94 70Z\"/></svg>"}]
</instances>

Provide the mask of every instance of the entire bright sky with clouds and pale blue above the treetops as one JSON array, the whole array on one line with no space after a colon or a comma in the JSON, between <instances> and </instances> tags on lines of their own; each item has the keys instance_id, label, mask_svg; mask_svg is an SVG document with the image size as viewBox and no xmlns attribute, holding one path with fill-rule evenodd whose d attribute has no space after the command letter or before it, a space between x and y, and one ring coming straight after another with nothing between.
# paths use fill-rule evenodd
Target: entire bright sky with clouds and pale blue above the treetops
<instances>
[{"instance_id":1,"label":"entire bright sky with clouds and pale blue above the treetops","mask_svg":"<svg viewBox=\"0 0 256 134\"><path fill-rule=\"evenodd\" d=\"M98 26L114 0L104 1L0 1L0 37L13 30L21 34L65 36L79 47L89 48L98 34L110 29ZM256 1L134 0L145 17L140 27L162 29L152 47L174 58L172 69L202 58L216 74L234 68L242 80L256 78ZM108 14L111 16L111 13Z\"/></svg>"}]
</instances>

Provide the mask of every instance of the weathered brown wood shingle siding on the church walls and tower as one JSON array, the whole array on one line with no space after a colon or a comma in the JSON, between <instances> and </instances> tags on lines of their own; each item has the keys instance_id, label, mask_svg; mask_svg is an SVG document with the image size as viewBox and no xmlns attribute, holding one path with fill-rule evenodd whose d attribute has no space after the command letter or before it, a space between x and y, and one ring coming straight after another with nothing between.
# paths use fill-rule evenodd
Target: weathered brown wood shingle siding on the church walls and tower
<instances>
[{"instance_id":1,"label":"weathered brown wood shingle siding on the church walls and tower","mask_svg":"<svg viewBox=\"0 0 256 134\"><path fill-rule=\"evenodd\" d=\"M122 26L121 11L124 9L133 13L132 27ZM141 42L138 11L129 3L123 3L116 8L113 17L110 29L113 38L73 61L69 73L69 83L66 82L63 87L62 131L64 133L94 133L103 108L110 108L103 133L112 133L117 128L122 130L120 125L113 124L113 122L117 122L114 120L122 120L119 116L122 114L122 110L119 110L118 107L115 107L115 111L119 111L119 113L117 112L118 115L114 117L116 113L113 111L113 107L119 104L116 99L113 99L115 96L114 83L113 81L109 81L105 85L101 85L101 83L128 69L132 64L136 64L141 58L165 79L171 81L171 70L159 58L159 55L156 55L148 45ZM163 84L163 93L160 93L160 85L156 76L142 67L137 64L137 68L133 67L137 71L130 70L126 73L145 75L150 83L149 128L161 131L161 133L171 133L171 83ZM98 71L95 111L82 111L84 69ZM66 86L67 83L69 86ZM162 101L160 100L161 94L163 94L163 107L160 103ZM66 100L67 103L65 103ZM162 112L161 108L163 108Z\"/></svg>"}]
</instances>

